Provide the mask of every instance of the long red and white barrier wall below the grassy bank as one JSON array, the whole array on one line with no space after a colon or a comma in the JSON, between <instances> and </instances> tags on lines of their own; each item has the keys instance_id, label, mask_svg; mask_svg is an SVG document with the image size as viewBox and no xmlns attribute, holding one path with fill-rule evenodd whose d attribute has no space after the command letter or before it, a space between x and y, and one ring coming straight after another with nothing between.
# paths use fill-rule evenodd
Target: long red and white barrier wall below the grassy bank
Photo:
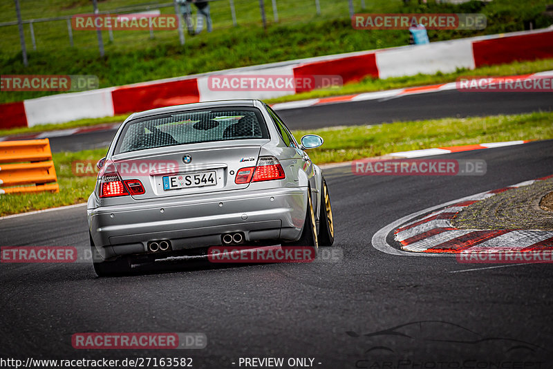
<instances>
[{"instance_id":1,"label":"long red and white barrier wall below the grassy bank","mask_svg":"<svg viewBox=\"0 0 553 369\"><path fill-rule=\"evenodd\" d=\"M82 118L108 117L190 102L268 99L293 93L289 90L214 91L209 86L209 77L216 75L285 75L294 78L338 75L343 83L348 83L358 81L366 76L387 78L417 75L418 73L434 74L439 71L449 73L457 68L474 69L487 64L504 64L512 61L550 57L553 57L553 30L550 28L439 41L420 46L401 46L328 55L0 104L0 114L3 117L0 120L0 129L61 123ZM437 86L443 89L449 85ZM375 94L387 96L391 93L415 93L415 91L405 88L372 93L373 95L329 97L286 103L287 105L277 104L277 108L340 102L344 99L347 101L348 98L366 100L379 96ZM386 97L384 95L382 97Z\"/></svg>"}]
</instances>

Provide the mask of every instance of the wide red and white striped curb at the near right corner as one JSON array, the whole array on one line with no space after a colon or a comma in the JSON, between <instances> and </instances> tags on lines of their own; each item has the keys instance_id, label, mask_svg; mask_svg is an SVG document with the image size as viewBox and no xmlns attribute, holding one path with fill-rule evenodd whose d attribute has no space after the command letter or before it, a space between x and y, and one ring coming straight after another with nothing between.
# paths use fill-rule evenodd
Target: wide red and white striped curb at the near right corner
<instances>
[{"instance_id":1,"label":"wide red and white striped curb at the near right corner","mask_svg":"<svg viewBox=\"0 0 553 369\"><path fill-rule=\"evenodd\" d=\"M467 249L478 252L526 252L534 249L553 249L553 231L456 229L451 225L451 220L474 202L548 178L553 178L553 175L528 180L503 189L477 193L410 214L377 231L373 236L373 247L386 254L409 256L455 256ZM420 216L423 217L420 218ZM391 231L394 232L394 239L401 243L401 250L386 241Z\"/></svg>"}]
</instances>

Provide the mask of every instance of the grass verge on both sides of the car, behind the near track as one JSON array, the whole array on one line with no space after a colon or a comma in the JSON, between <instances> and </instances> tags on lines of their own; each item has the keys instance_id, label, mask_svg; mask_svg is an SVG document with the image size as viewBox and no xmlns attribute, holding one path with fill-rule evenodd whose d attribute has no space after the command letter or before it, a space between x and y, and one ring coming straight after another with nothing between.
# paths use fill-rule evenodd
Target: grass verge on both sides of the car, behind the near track
<instances>
[{"instance_id":1,"label":"grass verge on both sides of the car, behind the near track","mask_svg":"<svg viewBox=\"0 0 553 369\"><path fill-rule=\"evenodd\" d=\"M307 133L321 135L325 144L310 150L309 155L313 162L324 164L439 146L547 140L553 138L552 121L553 113L532 113L343 126L293 133L296 138ZM95 177L73 176L71 163L73 160L98 160L105 153L106 149L95 149L54 154L59 193L0 196L0 216L86 201L94 188Z\"/></svg>"}]
</instances>

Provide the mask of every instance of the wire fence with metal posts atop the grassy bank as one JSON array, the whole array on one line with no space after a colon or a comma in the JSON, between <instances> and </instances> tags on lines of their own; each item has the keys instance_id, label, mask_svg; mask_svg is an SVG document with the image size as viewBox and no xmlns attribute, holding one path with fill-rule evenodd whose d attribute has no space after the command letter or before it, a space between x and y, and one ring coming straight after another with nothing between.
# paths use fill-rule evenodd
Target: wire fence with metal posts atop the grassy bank
<instances>
[{"instance_id":1,"label":"wire fence with metal posts atop the grassy bank","mask_svg":"<svg viewBox=\"0 0 553 369\"><path fill-rule=\"evenodd\" d=\"M93 0L55 0L46 8L41 0L19 0L21 25L28 52L59 51L65 48L97 50L99 32L95 30L77 30L72 26L74 15L94 13ZM142 0L143 1L143 0ZM214 35L229 28L243 28L248 32L251 27L270 27L273 23L308 22L317 19L347 18L353 12L363 11L365 0L207 0L212 18ZM371 0L371 4L382 9L386 3L401 0ZM13 55L21 50L18 29L16 1L6 1L0 5L0 53ZM178 30L102 30L102 43L108 49L136 48L144 46L148 40L157 43L185 43L193 37L188 32L182 18L183 8L173 1L163 3L143 3L140 0L111 0L97 3L99 15L128 15L140 12L158 12L162 15L178 13L182 25L182 36ZM198 22L198 9L191 6L191 26ZM205 37L205 26L200 35ZM213 37L213 36L212 36ZM184 42L183 42L184 41ZM207 39L209 41L209 39Z\"/></svg>"}]
</instances>

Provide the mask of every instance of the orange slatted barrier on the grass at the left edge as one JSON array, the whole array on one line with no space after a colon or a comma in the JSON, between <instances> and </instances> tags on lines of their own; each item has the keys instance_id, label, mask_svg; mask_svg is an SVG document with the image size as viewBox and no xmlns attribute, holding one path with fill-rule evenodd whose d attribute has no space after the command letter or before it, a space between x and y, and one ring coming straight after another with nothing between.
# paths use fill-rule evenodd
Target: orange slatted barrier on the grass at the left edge
<instances>
[{"instance_id":1,"label":"orange slatted barrier on the grass at the left edge","mask_svg":"<svg viewBox=\"0 0 553 369\"><path fill-rule=\"evenodd\" d=\"M0 142L0 163L0 194L59 192L48 138Z\"/></svg>"}]
</instances>

